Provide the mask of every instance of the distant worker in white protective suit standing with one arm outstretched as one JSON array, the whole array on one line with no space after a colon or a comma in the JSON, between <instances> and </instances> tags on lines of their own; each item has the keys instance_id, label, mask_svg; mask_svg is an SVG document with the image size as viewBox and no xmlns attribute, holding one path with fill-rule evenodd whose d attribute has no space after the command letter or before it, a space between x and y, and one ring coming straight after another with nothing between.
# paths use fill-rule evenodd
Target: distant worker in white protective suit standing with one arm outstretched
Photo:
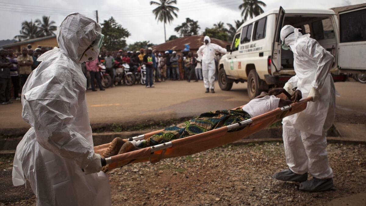
<instances>
[{"instance_id":1,"label":"distant worker in white protective suit standing with one arm outstretched","mask_svg":"<svg viewBox=\"0 0 366 206\"><path fill-rule=\"evenodd\" d=\"M228 52L219 45L211 43L210 37L208 36L205 36L203 40L205 44L199 47L197 51L198 57L202 59L203 83L205 84L206 93L209 92L209 89L211 89L212 93L215 93L215 52L223 54Z\"/></svg>"}]
</instances>

